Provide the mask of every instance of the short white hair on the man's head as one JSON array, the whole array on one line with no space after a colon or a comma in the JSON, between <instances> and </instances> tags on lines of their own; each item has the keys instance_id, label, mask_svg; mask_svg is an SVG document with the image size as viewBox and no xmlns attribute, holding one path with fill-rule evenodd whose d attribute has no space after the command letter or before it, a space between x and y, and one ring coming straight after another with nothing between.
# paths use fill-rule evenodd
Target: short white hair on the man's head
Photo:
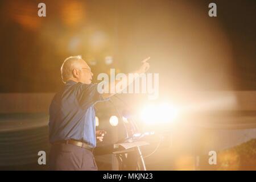
<instances>
[{"instance_id":1,"label":"short white hair on the man's head","mask_svg":"<svg viewBox=\"0 0 256 182\"><path fill-rule=\"evenodd\" d=\"M61 78L64 84L69 80L69 78L72 77L72 71L74 69L73 65L76 63L76 61L81 60L82 56L70 56L66 58L61 65L60 73Z\"/></svg>"}]
</instances>

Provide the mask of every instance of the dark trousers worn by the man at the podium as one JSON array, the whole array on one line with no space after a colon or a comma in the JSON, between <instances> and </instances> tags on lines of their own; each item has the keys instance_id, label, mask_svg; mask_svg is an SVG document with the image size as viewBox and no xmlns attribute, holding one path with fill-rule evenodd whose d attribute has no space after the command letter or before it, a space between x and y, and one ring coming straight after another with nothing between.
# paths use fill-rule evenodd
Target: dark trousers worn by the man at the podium
<instances>
[{"instance_id":1,"label":"dark trousers worn by the man at the podium","mask_svg":"<svg viewBox=\"0 0 256 182\"><path fill-rule=\"evenodd\" d=\"M97 171L93 153L73 144L52 144L49 156L50 170Z\"/></svg>"}]
</instances>

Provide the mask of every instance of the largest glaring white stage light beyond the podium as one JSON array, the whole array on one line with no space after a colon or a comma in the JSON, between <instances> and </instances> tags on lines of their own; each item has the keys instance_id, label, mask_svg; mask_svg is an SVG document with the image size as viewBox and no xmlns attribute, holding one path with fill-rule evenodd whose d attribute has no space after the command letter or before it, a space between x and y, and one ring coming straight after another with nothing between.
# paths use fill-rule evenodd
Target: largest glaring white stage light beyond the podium
<instances>
[{"instance_id":1,"label":"largest glaring white stage light beyond the podium","mask_svg":"<svg viewBox=\"0 0 256 182\"><path fill-rule=\"evenodd\" d=\"M147 124L168 123L177 117L177 109L169 104L148 105L141 113L141 119Z\"/></svg>"}]
</instances>

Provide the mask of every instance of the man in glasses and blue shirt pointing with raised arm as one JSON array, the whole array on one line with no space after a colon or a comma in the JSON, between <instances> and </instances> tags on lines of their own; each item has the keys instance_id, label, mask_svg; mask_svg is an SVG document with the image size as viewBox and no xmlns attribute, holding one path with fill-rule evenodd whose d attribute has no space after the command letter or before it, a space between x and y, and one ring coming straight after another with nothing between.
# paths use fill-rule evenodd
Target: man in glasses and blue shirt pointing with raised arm
<instances>
[{"instance_id":1,"label":"man in glasses and blue shirt pointing with raised arm","mask_svg":"<svg viewBox=\"0 0 256 182\"><path fill-rule=\"evenodd\" d=\"M147 60L134 73L146 72ZM97 84L92 84L93 73L80 56L65 59L60 71L65 85L49 107L50 169L97 170L92 151L96 140L102 141L105 131L96 131L93 105L115 93L97 91Z\"/></svg>"}]
</instances>

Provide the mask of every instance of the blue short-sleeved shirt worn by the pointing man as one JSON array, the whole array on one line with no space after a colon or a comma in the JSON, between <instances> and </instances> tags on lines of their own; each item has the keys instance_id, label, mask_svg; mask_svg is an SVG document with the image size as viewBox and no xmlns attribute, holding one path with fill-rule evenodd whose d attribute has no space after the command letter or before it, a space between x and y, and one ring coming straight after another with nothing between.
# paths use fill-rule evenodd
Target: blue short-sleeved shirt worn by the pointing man
<instances>
[{"instance_id":1,"label":"blue short-sleeved shirt worn by the pointing man","mask_svg":"<svg viewBox=\"0 0 256 182\"><path fill-rule=\"evenodd\" d=\"M67 81L49 107L49 140L81 140L96 147L94 104L104 101L97 84Z\"/></svg>"}]
</instances>

